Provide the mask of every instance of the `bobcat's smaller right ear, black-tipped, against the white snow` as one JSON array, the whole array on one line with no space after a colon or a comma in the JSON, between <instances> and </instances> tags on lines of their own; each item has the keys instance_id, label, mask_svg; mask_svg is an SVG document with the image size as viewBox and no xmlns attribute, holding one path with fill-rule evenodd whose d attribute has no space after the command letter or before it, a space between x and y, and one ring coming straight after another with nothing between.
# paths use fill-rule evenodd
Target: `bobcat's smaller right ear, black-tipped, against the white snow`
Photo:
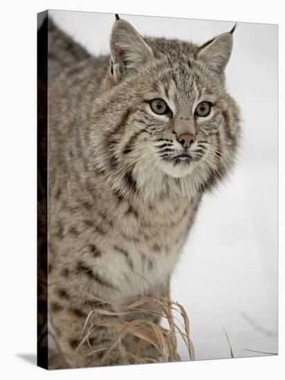
<instances>
[{"instance_id":1,"label":"bobcat's smaller right ear, black-tipped, against the white snow","mask_svg":"<svg viewBox=\"0 0 285 380\"><path fill-rule=\"evenodd\" d=\"M232 32L234 30L233 28L229 33L223 33L211 39L199 48L197 57L203 59L205 64L216 73L223 73L228 64L232 53Z\"/></svg>"}]
</instances>

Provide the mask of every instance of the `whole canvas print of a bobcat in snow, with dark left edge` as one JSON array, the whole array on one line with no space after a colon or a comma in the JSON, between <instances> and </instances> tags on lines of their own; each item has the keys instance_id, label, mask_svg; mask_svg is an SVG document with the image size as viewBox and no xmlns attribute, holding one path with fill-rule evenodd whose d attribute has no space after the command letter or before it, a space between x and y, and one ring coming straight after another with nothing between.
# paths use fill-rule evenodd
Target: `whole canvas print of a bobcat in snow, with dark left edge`
<instances>
[{"instance_id":1,"label":"whole canvas print of a bobcat in snow, with dark left edge","mask_svg":"<svg viewBox=\"0 0 285 380\"><path fill-rule=\"evenodd\" d=\"M38 365L277 354L277 26L38 15Z\"/></svg>"}]
</instances>

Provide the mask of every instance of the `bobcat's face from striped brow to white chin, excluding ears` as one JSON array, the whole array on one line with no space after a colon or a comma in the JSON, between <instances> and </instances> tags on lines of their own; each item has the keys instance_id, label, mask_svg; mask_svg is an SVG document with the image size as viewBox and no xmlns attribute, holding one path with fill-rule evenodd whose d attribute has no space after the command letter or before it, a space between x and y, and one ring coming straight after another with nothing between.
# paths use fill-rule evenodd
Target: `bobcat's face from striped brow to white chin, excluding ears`
<instances>
[{"instance_id":1,"label":"bobcat's face from striped brow to white chin, excluding ears","mask_svg":"<svg viewBox=\"0 0 285 380\"><path fill-rule=\"evenodd\" d=\"M144 162L148 169L174 178L195 169L219 175L230 166L237 147L239 127L230 114L234 103L219 77L201 73L196 62L191 67L181 64L179 70L160 63L154 77L145 76L141 82L136 78L131 116L120 144L122 162ZM177 75L182 70L183 75Z\"/></svg>"}]
</instances>

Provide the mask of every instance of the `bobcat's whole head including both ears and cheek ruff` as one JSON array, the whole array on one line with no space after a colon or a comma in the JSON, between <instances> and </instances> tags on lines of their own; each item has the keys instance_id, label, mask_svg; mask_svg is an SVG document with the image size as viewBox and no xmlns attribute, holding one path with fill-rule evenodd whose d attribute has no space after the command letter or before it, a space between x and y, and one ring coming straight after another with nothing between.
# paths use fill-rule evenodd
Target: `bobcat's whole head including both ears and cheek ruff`
<instances>
[{"instance_id":1,"label":"bobcat's whole head including both ears and cheek ruff","mask_svg":"<svg viewBox=\"0 0 285 380\"><path fill-rule=\"evenodd\" d=\"M188 194L212 187L232 167L239 111L223 75L231 50L231 33L198 48L144 40L127 21L116 21L114 86L104 104L104 160L116 189L159 193L175 184Z\"/></svg>"}]
</instances>

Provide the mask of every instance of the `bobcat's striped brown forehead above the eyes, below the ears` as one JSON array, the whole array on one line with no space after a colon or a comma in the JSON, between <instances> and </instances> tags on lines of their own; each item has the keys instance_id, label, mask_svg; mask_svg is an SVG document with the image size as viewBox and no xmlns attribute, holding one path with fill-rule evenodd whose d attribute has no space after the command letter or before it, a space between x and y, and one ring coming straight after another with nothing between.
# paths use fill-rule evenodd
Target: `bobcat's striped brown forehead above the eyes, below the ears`
<instances>
[{"instance_id":1,"label":"bobcat's striped brown forehead above the eyes, below the ears","mask_svg":"<svg viewBox=\"0 0 285 380\"><path fill-rule=\"evenodd\" d=\"M203 67L193 55L170 63L167 57L156 59L138 70L137 77L127 82L122 91L134 97L135 106L142 99L163 99L174 115L183 117L189 116L199 101L216 102L225 94L221 77Z\"/></svg>"}]
</instances>

